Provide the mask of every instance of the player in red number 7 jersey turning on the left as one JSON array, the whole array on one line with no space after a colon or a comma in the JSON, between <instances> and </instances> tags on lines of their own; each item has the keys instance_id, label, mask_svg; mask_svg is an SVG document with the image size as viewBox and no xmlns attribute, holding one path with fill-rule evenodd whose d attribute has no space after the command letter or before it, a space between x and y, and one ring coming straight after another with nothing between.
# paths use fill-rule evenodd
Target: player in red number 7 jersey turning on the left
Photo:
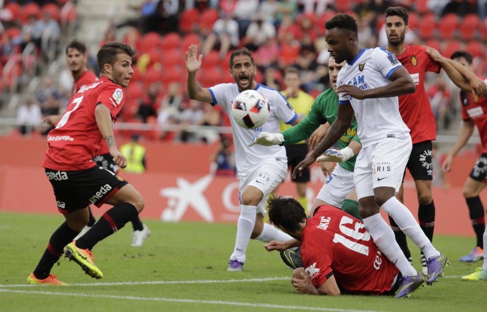
<instances>
[{"instance_id":1,"label":"player in red number 7 jersey turning on the left","mask_svg":"<svg viewBox=\"0 0 487 312\"><path fill-rule=\"evenodd\" d=\"M127 165L127 159L117 148L112 123L124 105L123 88L133 74L131 62L135 53L131 46L120 42L103 45L96 56L101 78L71 98L66 112L48 135L49 147L42 166L53 186L57 208L66 221L52 234L36 269L27 278L29 284L65 285L51 274L63 250L87 274L103 277L91 250L144 208L142 196L131 184L96 166L92 159L103 137L113 161L122 168ZM113 207L86 234L73 241L88 222L90 203Z\"/></svg>"}]
</instances>

